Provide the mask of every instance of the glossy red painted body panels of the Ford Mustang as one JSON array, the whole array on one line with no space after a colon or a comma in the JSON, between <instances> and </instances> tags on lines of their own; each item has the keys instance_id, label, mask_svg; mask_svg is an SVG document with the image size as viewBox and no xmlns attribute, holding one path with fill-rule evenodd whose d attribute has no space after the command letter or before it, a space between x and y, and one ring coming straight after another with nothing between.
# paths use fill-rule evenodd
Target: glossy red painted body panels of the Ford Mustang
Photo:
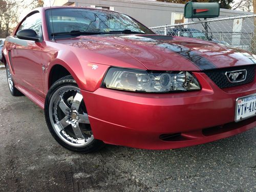
<instances>
[{"instance_id":1,"label":"glossy red painted body panels of the Ford Mustang","mask_svg":"<svg viewBox=\"0 0 256 192\"><path fill-rule=\"evenodd\" d=\"M94 35L53 41L47 31L47 9L37 9L42 18L42 42L27 40L27 46L16 44L19 24L5 42L5 64L12 64L15 87L42 109L50 88L51 70L55 65L66 68L81 89L95 139L138 148L167 149L218 140L256 126L256 117L234 122L236 99L256 93L255 78L242 86L220 89L202 71L205 66L197 66L193 59L168 49L165 42L207 59L211 63L209 69L254 65L255 55L185 37L165 40L159 36L161 43L148 40L146 35ZM98 66L97 70L92 69L93 65ZM191 71L202 90L153 94L101 88L111 66ZM176 133L180 136L172 141L159 138Z\"/></svg>"}]
</instances>

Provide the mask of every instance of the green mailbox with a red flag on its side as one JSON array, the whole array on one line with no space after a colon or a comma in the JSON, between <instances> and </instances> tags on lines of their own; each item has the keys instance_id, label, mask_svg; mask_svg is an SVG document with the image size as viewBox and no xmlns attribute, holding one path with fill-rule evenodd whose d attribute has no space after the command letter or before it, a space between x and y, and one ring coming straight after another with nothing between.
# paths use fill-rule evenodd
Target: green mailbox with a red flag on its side
<instances>
[{"instance_id":1,"label":"green mailbox with a red flag on its side","mask_svg":"<svg viewBox=\"0 0 256 192\"><path fill-rule=\"evenodd\" d=\"M220 15L218 3L187 2L184 7L185 18L211 18Z\"/></svg>"}]
</instances>

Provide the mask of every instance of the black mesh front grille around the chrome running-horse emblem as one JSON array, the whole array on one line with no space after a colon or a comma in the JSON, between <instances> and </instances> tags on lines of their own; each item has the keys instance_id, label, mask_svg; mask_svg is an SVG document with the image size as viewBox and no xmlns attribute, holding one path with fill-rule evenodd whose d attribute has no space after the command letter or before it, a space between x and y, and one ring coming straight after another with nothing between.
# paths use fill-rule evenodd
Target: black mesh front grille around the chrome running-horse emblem
<instances>
[{"instance_id":1,"label":"black mesh front grille around the chrome running-horse emblem","mask_svg":"<svg viewBox=\"0 0 256 192\"><path fill-rule=\"evenodd\" d=\"M217 84L219 88L230 88L234 86L241 86L242 84L250 83L254 80L255 76L255 66L240 66L240 67L232 67L232 68L223 68L223 69L213 69L213 70L205 70L203 71L212 81ZM242 82L229 82L225 73L227 71L237 71L237 70L247 70L246 79Z\"/></svg>"}]
</instances>

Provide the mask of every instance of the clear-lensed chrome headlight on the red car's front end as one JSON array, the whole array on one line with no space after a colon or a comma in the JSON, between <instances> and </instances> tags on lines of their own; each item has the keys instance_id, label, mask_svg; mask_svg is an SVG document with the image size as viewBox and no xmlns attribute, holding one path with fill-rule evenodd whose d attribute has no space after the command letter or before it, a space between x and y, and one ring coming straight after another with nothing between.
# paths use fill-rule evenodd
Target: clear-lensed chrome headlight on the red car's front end
<instances>
[{"instance_id":1,"label":"clear-lensed chrome headlight on the red car's front end","mask_svg":"<svg viewBox=\"0 0 256 192\"><path fill-rule=\"evenodd\" d=\"M103 80L102 87L150 93L201 89L196 77L189 72L147 72L121 68L110 68Z\"/></svg>"}]
</instances>

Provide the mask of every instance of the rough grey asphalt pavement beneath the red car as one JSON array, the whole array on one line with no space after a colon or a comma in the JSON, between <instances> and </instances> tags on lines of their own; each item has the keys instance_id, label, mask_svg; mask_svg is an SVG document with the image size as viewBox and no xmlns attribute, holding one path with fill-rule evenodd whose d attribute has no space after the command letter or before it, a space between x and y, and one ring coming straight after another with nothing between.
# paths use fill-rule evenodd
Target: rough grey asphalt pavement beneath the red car
<instances>
[{"instance_id":1,"label":"rough grey asphalt pavement beneath the red car","mask_svg":"<svg viewBox=\"0 0 256 192\"><path fill-rule=\"evenodd\" d=\"M203 145L84 155L50 135L44 113L12 97L0 70L0 191L256 191L256 129Z\"/></svg>"}]
</instances>

